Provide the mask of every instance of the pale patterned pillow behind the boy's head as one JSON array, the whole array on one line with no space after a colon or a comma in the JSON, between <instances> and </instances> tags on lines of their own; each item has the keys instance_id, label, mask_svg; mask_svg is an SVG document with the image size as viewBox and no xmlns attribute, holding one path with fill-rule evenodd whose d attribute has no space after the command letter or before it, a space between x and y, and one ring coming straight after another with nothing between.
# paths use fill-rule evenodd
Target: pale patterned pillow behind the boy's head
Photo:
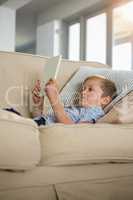
<instances>
[{"instance_id":1,"label":"pale patterned pillow behind the boy's head","mask_svg":"<svg viewBox=\"0 0 133 200\"><path fill-rule=\"evenodd\" d=\"M109 111L116 102L124 97L128 92L133 90L133 72L118 71L107 68L80 67L70 81L65 85L60 93L60 97L64 106L79 105L79 89L81 83L92 75L103 75L107 79L115 82L117 87L117 97L105 108L105 112ZM49 109L52 112L52 109Z\"/></svg>"}]
</instances>

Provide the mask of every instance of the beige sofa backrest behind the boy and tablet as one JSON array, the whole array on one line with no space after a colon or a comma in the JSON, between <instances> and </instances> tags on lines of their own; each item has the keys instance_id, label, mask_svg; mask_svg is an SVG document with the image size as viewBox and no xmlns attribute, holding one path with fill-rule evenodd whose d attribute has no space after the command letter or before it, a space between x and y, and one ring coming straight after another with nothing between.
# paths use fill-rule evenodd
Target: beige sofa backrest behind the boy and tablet
<instances>
[{"instance_id":1,"label":"beige sofa backrest behind the boy and tablet","mask_svg":"<svg viewBox=\"0 0 133 200\"><path fill-rule=\"evenodd\" d=\"M0 52L0 107L14 107L29 117L29 91L44 73L47 57ZM80 66L108 67L95 62L63 60L57 77L60 88Z\"/></svg>"}]
</instances>

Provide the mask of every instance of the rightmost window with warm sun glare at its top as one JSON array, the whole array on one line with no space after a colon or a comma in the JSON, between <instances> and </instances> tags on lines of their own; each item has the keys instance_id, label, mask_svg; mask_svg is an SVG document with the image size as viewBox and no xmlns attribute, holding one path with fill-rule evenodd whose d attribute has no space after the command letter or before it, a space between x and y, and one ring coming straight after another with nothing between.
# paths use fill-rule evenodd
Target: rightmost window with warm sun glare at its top
<instances>
[{"instance_id":1,"label":"rightmost window with warm sun glare at its top","mask_svg":"<svg viewBox=\"0 0 133 200\"><path fill-rule=\"evenodd\" d=\"M113 9L113 69L131 70L133 2Z\"/></svg>"}]
</instances>

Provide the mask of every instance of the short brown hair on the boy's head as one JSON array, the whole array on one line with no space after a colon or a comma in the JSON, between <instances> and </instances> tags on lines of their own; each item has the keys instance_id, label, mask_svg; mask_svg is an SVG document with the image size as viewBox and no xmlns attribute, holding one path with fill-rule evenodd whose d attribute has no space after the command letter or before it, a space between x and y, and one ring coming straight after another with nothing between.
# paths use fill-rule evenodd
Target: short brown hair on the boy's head
<instances>
[{"instance_id":1,"label":"short brown hair on the boy's head","mask_svg":"<svg viewBox=\"0 0 133 200\"><path fill-rule=\"evenodd\" d=\"M96 80L100 81L100 86L101 86L101 89L103 90L102 96L104 96L104 97L110 96L112 99L114 99L117 96L117 88L116 88L116 85L113 81L108 80L104 76L94 75L94 76L87 77L84 80L84 83L86 81L92 80L92 79L96 79Z\"/></svg>"}]
</instances>

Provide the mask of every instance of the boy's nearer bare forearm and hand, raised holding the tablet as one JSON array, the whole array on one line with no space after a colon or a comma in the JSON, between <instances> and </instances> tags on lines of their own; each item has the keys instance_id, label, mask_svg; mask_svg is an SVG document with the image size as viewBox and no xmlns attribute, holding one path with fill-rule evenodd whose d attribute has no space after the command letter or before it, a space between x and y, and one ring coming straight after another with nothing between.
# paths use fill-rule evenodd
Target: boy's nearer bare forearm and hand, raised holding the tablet
<instances>
[{"instance_id":1,"label":"boy's nearer bare forearm and hand, raised holding the tablet","mask_svg":"<svg viewBox=\"0 0 133 200\"><path fill-rule=\"evenodd\" d=\"M51 103L57 121L63 124L74 124L60 102L58 86L55 80L50 79L50 81L46 84L45 92Z\"/></svg>"}]
</instances>

